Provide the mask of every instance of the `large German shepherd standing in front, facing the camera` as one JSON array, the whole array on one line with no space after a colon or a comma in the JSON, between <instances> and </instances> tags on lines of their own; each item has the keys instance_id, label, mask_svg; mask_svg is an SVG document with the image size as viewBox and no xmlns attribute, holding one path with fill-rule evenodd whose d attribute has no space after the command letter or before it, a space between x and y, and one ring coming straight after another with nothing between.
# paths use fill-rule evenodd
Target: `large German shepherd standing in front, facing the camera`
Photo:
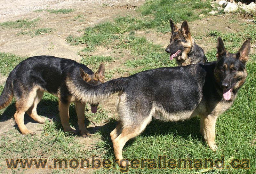
<instances>
[{"instance_id":1,"label":"large German shepherd standing in front, facing the camera","mask_svg":"<svg viewBox=\"0 0 256 174\"><path fill-rule=\"evenodd\" d=\"M249 40L232 54L226 51L219 37L215 62L142 71L97 86L84 82L77 70L67 77L66 82L68 89L73 89L70 91L73 96L81 96L82 102L91 105L119 92L119 121L110 133L116 159L123 159L125 143L139 135L153 117L163 121L183 121L200 115L203 137L210 149L216 150L217 117L231 107L238 89L245 82L249 52Z\"/></svg>"}]
</instances>

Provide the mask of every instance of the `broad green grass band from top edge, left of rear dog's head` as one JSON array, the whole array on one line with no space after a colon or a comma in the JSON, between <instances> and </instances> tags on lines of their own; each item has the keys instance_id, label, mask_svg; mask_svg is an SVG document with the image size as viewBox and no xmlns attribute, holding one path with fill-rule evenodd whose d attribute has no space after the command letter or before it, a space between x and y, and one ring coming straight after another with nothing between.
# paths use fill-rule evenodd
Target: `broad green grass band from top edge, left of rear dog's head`
<instances>
[{"instance_id":1,"label":"broad green grass band from top edge, left of rear dog's head","mask_svg":"<svg viewBox=\"0 0 256 174\"><path fill-rule=\"evenodd\" d=\"M210 1L202 2L200 0L148 0L138 10L141 13L140 17L120 16L114 21L87 27L84 29L83 36L68 36L66 40L74 45L85 44L85 51L80 51L82 55L86 55L86 52L96 51L94 48L99 45L110 48L126 48L125 36L123 35L139 29L156 29L156 31L163 33L169 32L170 18L174 22L193 21L199 19L199 9L211 7L210 5Z\"/></svg>"}]
</instances>

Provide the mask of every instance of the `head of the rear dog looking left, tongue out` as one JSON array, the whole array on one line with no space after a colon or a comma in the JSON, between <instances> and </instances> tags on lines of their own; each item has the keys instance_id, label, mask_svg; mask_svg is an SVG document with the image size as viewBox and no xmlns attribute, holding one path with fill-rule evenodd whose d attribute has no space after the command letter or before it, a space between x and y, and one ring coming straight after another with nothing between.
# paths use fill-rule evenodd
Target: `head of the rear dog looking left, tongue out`
<instances>
[{"instance_id":1,"label":"head of the rear dog looking left, tongue out","mask_svg":"<svg viewBox=\"0 0 256 174\"><path fill-rule=\"evenodd\" d=\"M180 29L170 19L170 27L172 29L172 36L170 44L166 47L165 51L170 53L170 60L174 57L177 59L187 59L187 55L194 45L194 40L191 37L188 22L185 20Z\"/></svg>"}]
</instances>

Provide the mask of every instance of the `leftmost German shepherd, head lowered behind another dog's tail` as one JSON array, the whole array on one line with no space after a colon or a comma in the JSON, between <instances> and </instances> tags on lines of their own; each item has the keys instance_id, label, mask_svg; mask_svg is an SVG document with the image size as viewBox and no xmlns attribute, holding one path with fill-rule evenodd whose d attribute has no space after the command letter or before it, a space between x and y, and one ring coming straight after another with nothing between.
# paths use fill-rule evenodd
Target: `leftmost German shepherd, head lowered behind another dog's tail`
<instances>
[{"instance_id":1,"label":"leftmost German shepherd, head lowered behind another dog's tail","mask_svg":"<svg viewBox=\"0 0 256 174\"><path fill-rule=\"evenodd\" d=\"M15 121L23 135L35 132L28 130L24 124L24 114L27 114L38 123L45 123L46 119L37 115L36 106L43 97L44 91L49 92L59 99L61 124L64 131L76 132L69 125L69 105L75 102L78 126L83 138L90 136L84 125L85 104L73 96L66 83L75 83L71 76L76 76L79 68L82 70L85 82L98 85L104 83L104 64L101 64L94 74L91 69L71 59L53 56L35 56L20 62L9 74L4 90L0 96L0 109L7 107L14 97L16 99ZM78 73L80 76L80 72ZM81 78L81 76L80 76ZM70 81L70 82L68 82ZM91 105L93 113L97 112L97 103ZM48 119L51 121L50 119Z\"/></svg>"}]
</instances>

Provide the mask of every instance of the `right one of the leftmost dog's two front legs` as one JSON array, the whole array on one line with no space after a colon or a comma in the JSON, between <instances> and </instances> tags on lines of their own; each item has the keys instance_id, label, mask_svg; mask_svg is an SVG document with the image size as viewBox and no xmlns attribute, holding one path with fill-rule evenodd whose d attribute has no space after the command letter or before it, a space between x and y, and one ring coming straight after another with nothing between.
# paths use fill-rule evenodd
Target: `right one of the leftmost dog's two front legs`
<instances>
[{"instance_id":1,"label":"right one of the leftmost dog's two front legs","mask_svg":"<svg viewBox=\"0 0 256 174\"><path fill-rule=\"evenodd\" d=\"M77 115L77 119L78 119L78 127L80 130L80 133L82 135L83 138L89 137L91 136L90 131L88 131L84 125L84 108L85 105L82 104L81 102L76 102L75 105L76 108L76 115Z\"/></svg>"}]
</instances>

